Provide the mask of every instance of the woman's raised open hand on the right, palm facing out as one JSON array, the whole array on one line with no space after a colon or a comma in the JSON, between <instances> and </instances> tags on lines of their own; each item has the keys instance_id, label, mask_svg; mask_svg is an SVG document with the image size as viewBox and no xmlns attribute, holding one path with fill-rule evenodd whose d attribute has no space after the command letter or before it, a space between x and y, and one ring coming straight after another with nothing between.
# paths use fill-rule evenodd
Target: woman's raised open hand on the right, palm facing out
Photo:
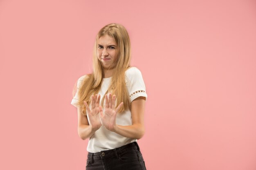
<instances>
[{"instance_id":1,"label":"woman's raised open hand on the right, palm facing out","mask_svg":"<svg viewBox=\"0 0 256 170\"><path fill-rule=\"evenodd\" d=\"M99 113L100 113L100 119L101 119L101 124L106 127L106 129L113 131L115 126L116 126L116 117L117 117L117 112L121 108L121 106L124 104L121 102L117 109L115 110L115 102L116 101L116 95L111 95L109 93L108 95L105 96L105 111L103 114L103 109L101 106L99 106Z\"/></svg>"}]
</instances>

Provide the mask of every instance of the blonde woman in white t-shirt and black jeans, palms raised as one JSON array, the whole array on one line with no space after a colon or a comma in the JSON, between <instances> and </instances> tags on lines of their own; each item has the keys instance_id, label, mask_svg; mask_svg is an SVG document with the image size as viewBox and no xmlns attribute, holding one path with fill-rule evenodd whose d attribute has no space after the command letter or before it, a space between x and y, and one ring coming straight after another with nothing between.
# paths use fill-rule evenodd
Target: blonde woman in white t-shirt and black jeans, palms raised
<instances>
[{"instance_id":1,"label":"blonde woman in white t-shirt and black jeans, palms raised","mask_svg":"<svg viewBox=\"0 0 256 170\"><path fill-rule=\"evenodd\" d=\"M144 135L147 94L130 54L124 26L104 26L94 44L93 73L75 86L78 134L89 138L86 170L146 170L137 139Z\"/></svg>"}]
</instances>

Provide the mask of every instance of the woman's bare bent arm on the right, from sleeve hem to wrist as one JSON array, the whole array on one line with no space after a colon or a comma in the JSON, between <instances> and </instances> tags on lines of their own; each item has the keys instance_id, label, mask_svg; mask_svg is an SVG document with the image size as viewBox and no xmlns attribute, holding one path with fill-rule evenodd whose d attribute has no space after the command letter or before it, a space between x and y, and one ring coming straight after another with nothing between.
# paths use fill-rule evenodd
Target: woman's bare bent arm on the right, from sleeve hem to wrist
<instances>
[{"instance_id":1,"label":"woman's bare bent arm on the right, from sleeve hem to wrist","mask_svg":"<svg viewBox=\"0 0 256 170\"><path fill-rule=\"evenodd\" d=\"M145 97L137 97L131 102L131 114L132 125L121 126L116 125L111 130L124 137L130 137L135 139L141 139L143 137L144 128L144 109L145 109Z\"/></svg>"}]
</instances>

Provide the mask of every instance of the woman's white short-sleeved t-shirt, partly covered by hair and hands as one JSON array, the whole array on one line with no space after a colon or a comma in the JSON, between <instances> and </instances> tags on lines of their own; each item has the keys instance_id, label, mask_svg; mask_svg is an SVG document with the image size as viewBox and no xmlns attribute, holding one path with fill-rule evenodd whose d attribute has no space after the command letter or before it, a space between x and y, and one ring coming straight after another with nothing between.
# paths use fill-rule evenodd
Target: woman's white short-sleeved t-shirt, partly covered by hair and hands
<instances>
[{"instance_id":1,"label":"woman's white short-sleeved t-shirt, partly covered by hair and hands","mask_svg":"<svg viewBox=\"0 0 256 170\"><path fill-rule=\"evenodd\" d=\"M128 70L126 70L125 74L126 74L126 87L127 87L128 94L130 96L130 102L132 102L134 99L140 96L147 98L146 87L139 69L136 67L130 67L128 68ZM85 76L86 75L79 77L77 82L76 95L73 97L71 102L71 104L75 107L77 107L76 102L78 102L79 86L83 78L85 78ZM110 85L111 78L112 77L103 79L103 82L101 84L101 89L98 93L101 95L101 99L103 98L104 94L108 90L108 86ZM90 124L90 117L88 116L87 111L86 111L86 114L88 117L88 122ZM122 126L132 125L131 111L128 109L122 113L117 113L116 124L122 125ZM131 142L134 142L134 141L137 141L137 139L123 137L115 132L111 132L107 130L104 126L101 126L101 128L99 128L96 132L94 132L94 135L92 135L92 137L89 138L87 151L95 153L95 152L100 152L102 150L110 150L110 149L118 148L120 146L124 146L126 144L130 144Z\"/></svg>"}]
</instances>

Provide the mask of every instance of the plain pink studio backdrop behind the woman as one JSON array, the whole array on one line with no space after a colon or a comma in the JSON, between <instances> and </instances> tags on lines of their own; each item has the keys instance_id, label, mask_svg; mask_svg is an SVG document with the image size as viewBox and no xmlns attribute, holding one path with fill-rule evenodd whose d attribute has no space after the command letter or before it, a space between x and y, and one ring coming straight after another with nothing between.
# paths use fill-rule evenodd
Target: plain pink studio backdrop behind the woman
<instances>
[{"instance_id":1,"label":"plain pink studio backdrop behind the woman","mask_svg":"<svg viewBox=\"0 0 256 170\"><path fill-rule=\"evenodd\" d=\"M0 169L85 169L72 89L112 22L146 84L147 170L256 170L254 0L0 0Z\"/></svg>"}]
</instances>

